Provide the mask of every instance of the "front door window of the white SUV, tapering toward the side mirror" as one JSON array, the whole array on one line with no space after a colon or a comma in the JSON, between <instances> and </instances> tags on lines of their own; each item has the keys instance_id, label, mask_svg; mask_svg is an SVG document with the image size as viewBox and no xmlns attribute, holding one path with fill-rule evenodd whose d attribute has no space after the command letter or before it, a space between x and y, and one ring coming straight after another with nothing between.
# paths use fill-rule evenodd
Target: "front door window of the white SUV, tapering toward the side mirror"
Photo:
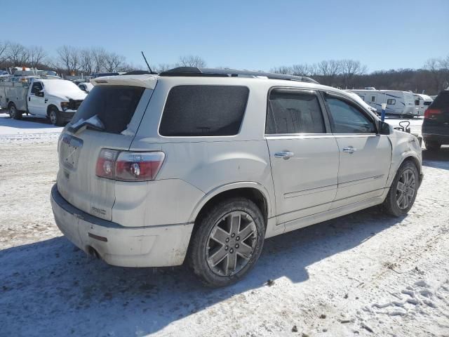
<instances>
[{"instance_id":1,"label":"front door window of the white SUV, tapering toward the side mirror","mask_svg":"<svg viewBox=\"0 0 449 337\"><path fill-rule=\"evenodd\" d=\"M333 118L333 133L375 133L368 117L356 107L338 98L326 98Z\"/></svg>"}]
</instances>

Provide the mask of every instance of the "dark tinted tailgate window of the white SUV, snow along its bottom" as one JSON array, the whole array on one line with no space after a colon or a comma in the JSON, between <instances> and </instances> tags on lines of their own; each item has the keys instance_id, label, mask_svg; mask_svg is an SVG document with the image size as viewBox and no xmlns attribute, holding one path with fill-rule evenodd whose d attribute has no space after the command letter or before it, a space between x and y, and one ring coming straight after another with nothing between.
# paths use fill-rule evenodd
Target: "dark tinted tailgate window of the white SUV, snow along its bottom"
<instances>
[{"instance_id":1,"label":"dark tinted tailgate window of the white SUV, snow along its bottom","mask_svg":"<svg viewBox=\"0 0 449 337\"><path fill-rule=\"evenodd\" d=\"M74 114L72 124L96 114L105 132L121 133L133 118L144 91L140 86L95 86Z\"/></svg>"}]
</instances>

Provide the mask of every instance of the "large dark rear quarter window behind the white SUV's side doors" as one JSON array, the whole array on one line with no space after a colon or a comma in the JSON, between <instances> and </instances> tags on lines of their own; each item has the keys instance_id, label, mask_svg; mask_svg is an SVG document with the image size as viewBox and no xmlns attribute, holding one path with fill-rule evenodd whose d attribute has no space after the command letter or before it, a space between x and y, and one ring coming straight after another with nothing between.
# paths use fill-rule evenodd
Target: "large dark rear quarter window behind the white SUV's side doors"
<instances>
[{"instance_id":1,"label":"large dark rear quarter window behind the white SUV's side doors","mask_svg":"<svg viewBox=\"0 0 449 337\"><path fill-rule=\"evenodd\" d=\"M248 94L245 86L175 86L168 93L159 133L234 136L239 133Z\"/></svg>"}]
</instances>

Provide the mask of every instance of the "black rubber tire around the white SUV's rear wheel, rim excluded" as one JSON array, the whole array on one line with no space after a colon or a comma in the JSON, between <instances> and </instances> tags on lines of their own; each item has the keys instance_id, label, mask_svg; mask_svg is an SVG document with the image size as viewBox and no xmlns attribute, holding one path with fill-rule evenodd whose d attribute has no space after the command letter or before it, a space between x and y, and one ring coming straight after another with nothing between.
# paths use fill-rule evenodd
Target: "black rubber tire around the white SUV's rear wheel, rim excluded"
<instances>
[{"instance_id":1,"label":"black rubber tire around the white SUV's rear wheel, rim excluded","mask_svg":"<svg viewBox=\"0 0 449 337\"><path fill-rule=\"evenodd\" d=\"M248 258L243 258L243 256L239 255L239 240L238 236L227 237L226 242L229 242L229 251L228 251L228 244L218 244L213 240L211 240L211 235L213 235L213 230L216 230L217 226L220 224L227 224L226 219L228 216L231 216L231 214L236 213L242 213L242 216L240 217L243 220L248 220L248 223L250 225L246 225L242 229L241 223L243 223L243 220L239 221L239 232L241 233L244 230L246 230L246 227L252 227L255 229L253 231L253 234L248 237L250 239L250 243L246 241L247 239L241 239L240 244L243 246L243 243L246 242L248 244L245 244L246 247L248 245L252 246L252 251L250 253L250 256ZM248 218L248 216L250 218ZM235 217L235 216L234 216ZM231 223L233 223L234 218L231 218ZM252 222L251 222L252 220ZM204 213L201 218L197 219L197 223L194 227L194 232L192 233L192 238L190 240L190 246L189 246L189 253L188 253L188 263L190 267L192 268L194 274L201 279L201 281L206 284L207 286L211 287L218 287L218 286L228 286L230 284L234 284L235 282L238 282L240 279L242 279L245 275L248 274L248 272L253 268L255 265L257 259L260 256L260 252L262 251L262 246L264 243L264 235L265 235L265 225L264 225L264 218L262 216L262 213L260 209L256 206L256 204L253 201L250 201L246 198L242 197L234 197L230 199L225 199L224 201L221 201L219 204L216 204L215 206L212 206L206 213ZM255 225L255 226L254 226ZM229 223L229 235L233 232L232 225ZM234 234L234 233L232 233ZM230 239L230 241L229 241ZM216 245L216 247L210 248L210 245ZM235 246L234 246L235 245ZM233 252L233 248L235 247L235 251ZM223 251L223 249L226 249L227 256L225 258L222 258L222 262L217 263L217 266L222 264L223 269L226 270L226 272L229 272L229 275L219 275L217 273L217 270L220 269L220 267L210 267L210 262L208 262L208 255L210 254L210 251ZM230 253L234 254L234 259L236 261L240 260L241 263L238 265L238 263L234 263L234 270L229 270L229 256ZM210 260L215 254L213 253L211 256L209 256ZM210 261L209 260L209 261ZM238 268L241 268L238 270Z\"/></svg>"}]
</instances>

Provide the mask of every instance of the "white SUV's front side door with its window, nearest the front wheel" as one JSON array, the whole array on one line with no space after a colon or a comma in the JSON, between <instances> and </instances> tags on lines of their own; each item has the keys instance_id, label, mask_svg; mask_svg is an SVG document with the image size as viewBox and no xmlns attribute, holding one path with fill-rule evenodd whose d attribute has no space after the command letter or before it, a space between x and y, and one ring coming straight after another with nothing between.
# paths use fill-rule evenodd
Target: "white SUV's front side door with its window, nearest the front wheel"
<instances>
[{"instance_id":1,"label":"white SUV's front side door with its window, nearest the front wheel","mask_svg":"<svg viewBox=\"0 0 449 337\"><path fill-rule=\"evenodd\" d=\"M391 164L388 136L377 134L373 117L351 100L333 94L325 97L340 150L338 190L332 208L379 197Z\"/></svg>"}]
</instances>

